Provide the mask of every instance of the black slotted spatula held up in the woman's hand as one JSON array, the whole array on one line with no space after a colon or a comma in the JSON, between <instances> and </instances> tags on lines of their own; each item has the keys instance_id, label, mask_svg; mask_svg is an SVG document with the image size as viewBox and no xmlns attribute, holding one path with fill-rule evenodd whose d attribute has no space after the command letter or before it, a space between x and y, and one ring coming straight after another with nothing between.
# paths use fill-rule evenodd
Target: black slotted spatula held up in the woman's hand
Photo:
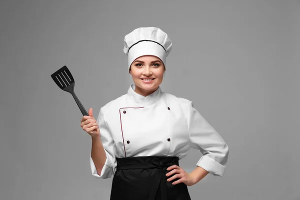
<instances>
[{"instance_id":1,"label":"black slotted spatula held up in the woman's hand","mask_svg":"<svg viewBox=\"0 0 300 200\"><path fill-rule=\"evenodd\" d=\"M60 89L72 94L82 114L88 116L87 111L84 109L80 100L77 98L74 92L75 81L68 68L64 65L63 67L52 73L51 77Z\"/></svg>"}]
</instances>

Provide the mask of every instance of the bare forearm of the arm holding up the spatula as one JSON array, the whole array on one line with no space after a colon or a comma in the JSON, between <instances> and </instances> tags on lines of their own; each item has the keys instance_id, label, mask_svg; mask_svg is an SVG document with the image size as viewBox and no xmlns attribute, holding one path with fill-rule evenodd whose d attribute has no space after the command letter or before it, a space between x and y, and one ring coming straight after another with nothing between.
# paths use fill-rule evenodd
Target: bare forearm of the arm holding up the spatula
<instances>
[{"instance_id":1,"label":"bare forearm of the arm holding up the spatula","mask_svg":"<svg viewBox=\"0 0 300 200\"><path fill-rule=\"evenodd\" d=\"M106 153L99 136L91 137L91 154L97 173L100 175L106 161Z\"/></svg>"}]
</instances>

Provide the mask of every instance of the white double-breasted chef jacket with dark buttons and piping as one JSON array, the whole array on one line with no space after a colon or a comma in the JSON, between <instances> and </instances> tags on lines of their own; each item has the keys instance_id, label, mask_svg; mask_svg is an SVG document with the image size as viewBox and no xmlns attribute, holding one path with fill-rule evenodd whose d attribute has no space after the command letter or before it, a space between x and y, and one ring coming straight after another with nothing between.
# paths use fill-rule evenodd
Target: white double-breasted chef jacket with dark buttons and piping
<instances>
[{"instance_id":1,"label":"white double-breasted chef jacket with dark buttons and piping","mask_svg":"<svg viewBox=\"0 0 300 200\"><path fill-rule=\"evenodd\" d=\"M131 84L126 94L106 103L97 117L106 161L100 175L90 156L96 178L113 177L115 157L187 155L190 148L203 155L196 162L213 175L222 176L228 145L193 107L193 102L162 92L160 86L143 96Z\"/></svg>"}]
</instances>

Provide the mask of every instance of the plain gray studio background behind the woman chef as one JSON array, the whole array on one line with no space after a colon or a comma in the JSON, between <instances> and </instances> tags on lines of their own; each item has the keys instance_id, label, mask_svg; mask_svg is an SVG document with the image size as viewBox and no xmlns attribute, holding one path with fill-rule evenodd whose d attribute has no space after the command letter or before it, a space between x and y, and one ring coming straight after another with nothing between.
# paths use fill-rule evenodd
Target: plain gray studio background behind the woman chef
<instances>
[{"instance_id":1,"label":"plain gray studio background behind the woman chef","mask_svg":"<svg viewBox=\"0 0 300 200\"><path fill-rule=\"evenodd\" d=\"M97 116L132 83L123 37L167 32L163 91L194 102L230 153L192 199L300 199L295 0L6 0L0 3L0 199L109 199L91 175L90 136L50 74L67 65ZM201 154L180 160L191 172Z\"/></svg>"}]
</instances>

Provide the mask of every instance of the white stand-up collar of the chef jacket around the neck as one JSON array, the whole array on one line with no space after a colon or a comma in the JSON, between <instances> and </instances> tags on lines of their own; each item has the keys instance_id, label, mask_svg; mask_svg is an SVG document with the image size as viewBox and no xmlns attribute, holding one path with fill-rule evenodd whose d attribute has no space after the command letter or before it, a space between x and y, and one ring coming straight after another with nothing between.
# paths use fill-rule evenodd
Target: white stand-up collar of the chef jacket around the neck
<instances>
[{"instance_id":1,"label":"white stand-up collar of the chef jacket around the neck","mask_svg":"<svg viewBox=\"0 0 300 200\"><path fill-rule=\"evenodd\" d=\"M129 86L127 94L131 100L133 100L136 104L141 106L146 106L151 103L154 103L162 96L162 91L160 86L158 86L158 88L153 93L147 96L143 96L139 93L136 93L134 89L135 89L135 84L133 83Z\"/></svg>"}]
</instances>

